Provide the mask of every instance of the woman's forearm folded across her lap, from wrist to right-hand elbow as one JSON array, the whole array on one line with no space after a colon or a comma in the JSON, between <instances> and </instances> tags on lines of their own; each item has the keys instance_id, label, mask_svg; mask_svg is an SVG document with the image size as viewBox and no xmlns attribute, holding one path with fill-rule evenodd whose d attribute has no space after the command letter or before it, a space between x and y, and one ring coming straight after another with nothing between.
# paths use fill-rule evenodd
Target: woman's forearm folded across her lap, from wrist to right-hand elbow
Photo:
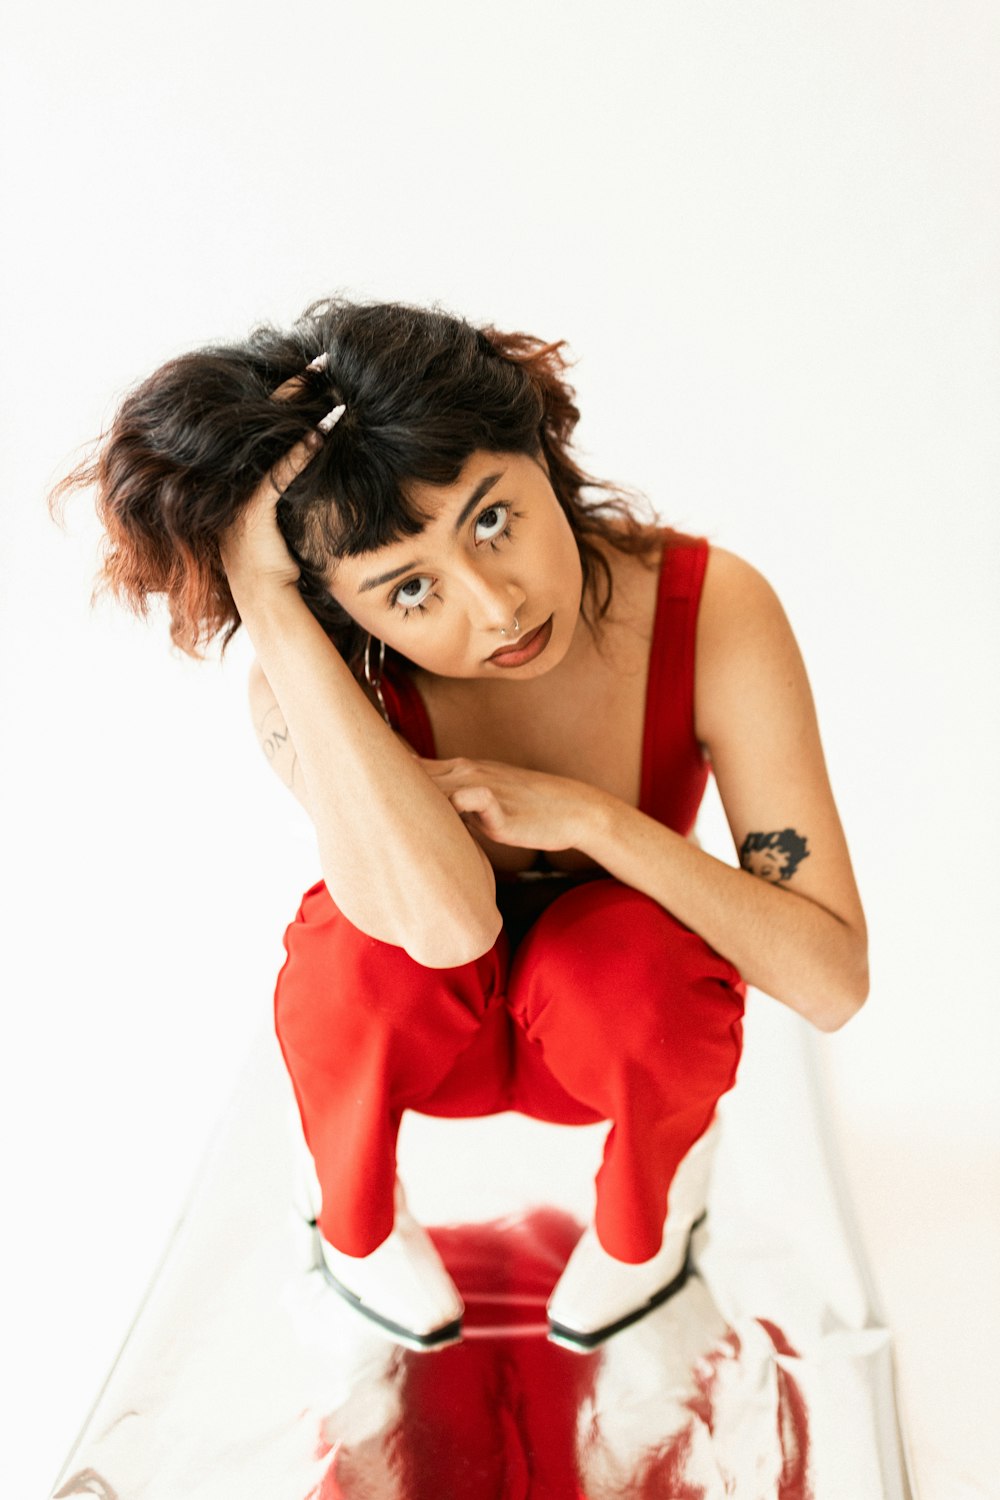
<instances>
[{"instance_id":1,"label":"woman's forearm folded across her lap, from wrist to right-hand elbow","mask_svg":"<svg viewBox=\"0 0 1000 1500\"><path fill-rule=\"evenodd\" d=\"M864 1004L867 944L814 902L715 860L598 790L583 802L577 848L699 933L747 984L820 1030L837 1030Z\"/></svg>"}]
</instances>

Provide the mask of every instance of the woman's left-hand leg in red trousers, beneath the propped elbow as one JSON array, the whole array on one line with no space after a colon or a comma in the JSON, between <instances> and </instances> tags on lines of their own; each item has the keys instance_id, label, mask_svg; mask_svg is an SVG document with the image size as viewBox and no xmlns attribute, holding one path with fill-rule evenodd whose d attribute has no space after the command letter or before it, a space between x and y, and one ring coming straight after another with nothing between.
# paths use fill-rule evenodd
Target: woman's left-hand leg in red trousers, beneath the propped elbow
<instances>
[{"instance_id":1,"label":"woman's left-hand leg in red trousers, beneath the propped elbow","mask_svg":"<svg viewBox=\"0 0 1000 1500\"><path fill-rule=\"evenodd\" d=\"M495 1016L505 938L474 963L426 969L358 932L319 882L285 946L274 1023L322 1191L319 1230L336 1250L369 1256L393 1228L403 1108L435 1095L445 1101L441 1113L508 1107L508 1023ZM462 1054L483 1046L489 1056L456 1072ZM448 1074L462 1083L451 1096L441 1088Z\"/></svg>"}]
</instances>

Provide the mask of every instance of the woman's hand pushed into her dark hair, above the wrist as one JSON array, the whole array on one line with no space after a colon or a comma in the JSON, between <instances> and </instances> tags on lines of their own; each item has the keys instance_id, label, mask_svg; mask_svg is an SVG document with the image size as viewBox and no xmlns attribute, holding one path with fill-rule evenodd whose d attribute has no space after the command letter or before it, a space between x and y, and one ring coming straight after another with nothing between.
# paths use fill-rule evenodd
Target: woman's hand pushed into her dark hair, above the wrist
<instances>
[{"instance_id":1,"label":"woman's hand pushed into her dark hair, above the wrist","mask_svg":"<svg viewBox=\"0 0 1000 1500\"><path fill-rule=\"evenodd\" d=\"M288 400L300 384L301 376L292 375L273 392L271 400ZM294 586L298 582L298 564L277 526L277 501L321 447L319 432L310 432L301 442L295 442L261 480L238 518L219 538L219 555L234 598L241 588Z\"/></svg>"}]
</instances>

